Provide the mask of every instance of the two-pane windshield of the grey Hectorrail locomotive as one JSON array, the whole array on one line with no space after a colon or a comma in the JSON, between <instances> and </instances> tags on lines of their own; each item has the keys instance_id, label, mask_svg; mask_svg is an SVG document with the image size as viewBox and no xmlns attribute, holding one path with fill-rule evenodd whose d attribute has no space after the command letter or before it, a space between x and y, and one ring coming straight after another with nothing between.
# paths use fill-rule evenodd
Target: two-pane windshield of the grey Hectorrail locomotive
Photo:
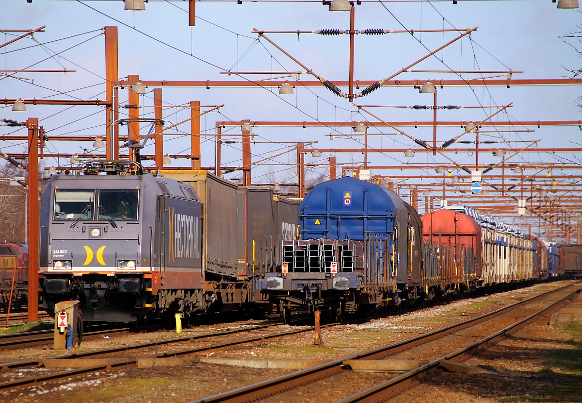
<instances>
[{"instance_id":1,"label":"two-pane windshield of the grey Hectorrail locomotive","mask_svg":"<svg viewBox=\"0 0 582 403\"><path fill-rule=\"evenodd\" d=\"M95 192L98 193L97 198ZM137 220L137 189L55 190L55 220ZM99 201L95 206L95 199Z\"/></svg>"}]
</instances>

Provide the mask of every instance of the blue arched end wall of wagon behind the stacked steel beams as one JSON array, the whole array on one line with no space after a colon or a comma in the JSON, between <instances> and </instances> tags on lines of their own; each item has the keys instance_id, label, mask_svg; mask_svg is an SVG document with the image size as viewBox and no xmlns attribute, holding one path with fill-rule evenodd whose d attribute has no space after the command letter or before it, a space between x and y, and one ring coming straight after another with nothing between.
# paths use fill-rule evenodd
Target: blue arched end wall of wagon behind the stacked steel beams
<instances>
[{"instance_id":1,"label":"blue arched end wall of wagon behind the stacked steel beams","mask_svg":"<svg viewBox=\"0 0 582 403\"><path fill-rule=\"evenodd\" d=\"M299 207L301 239L364 241L364 232L394 234L396 207L390 193L349 176L316 185Z\"/></svg>"}]
</instances>

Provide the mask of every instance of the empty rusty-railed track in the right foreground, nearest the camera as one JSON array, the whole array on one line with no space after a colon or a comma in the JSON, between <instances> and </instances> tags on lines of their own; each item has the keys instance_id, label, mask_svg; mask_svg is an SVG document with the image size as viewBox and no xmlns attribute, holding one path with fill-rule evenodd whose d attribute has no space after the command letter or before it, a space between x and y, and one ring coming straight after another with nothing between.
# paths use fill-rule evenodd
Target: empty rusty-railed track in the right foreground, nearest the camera
<instances>
[{"instance_id":1,"label":"empty rusty-railed track in the right foreground, nearest the camera","mask_svg":"<svg viewBox=\"0 0 582 403\"><path fill-rule=\"evenodd\" d=\"M391 379L388 379L382 383L376 384L375 386L358 391L349 397L343 398L343 400L340 402L351 403L384 401L395 397L407 388L414 387L415 384L420 383L420 381L423 379L426 379L427 377L430 377L441 371L441 368L443 367L449 370L462 370L463 366L459 365L461 362L470 358L470 356L473 356L476 353L491 347L492 345L503 340L503 338L516 333L524 326L527 326L527 324L530 324L532 321L538 319L538 317L540 317L542 314L548 313L548 311L552 308L556 307L560 303L565 302L567 299L571 298L573 294L580 292L579 285L577 286L578 287L573 289L573 291L567 292L565 296L554 299L554 301L548 303L542 309L537 309L534 313L528 314L526 317L523 317L510 324L509 326L505 326L500 330L495 331L492 334L488 334L487 337L481 338L476 342L464 345L463 347L458 348L453 352L439 356L438 358L425 360L424 363L421 363L420 366L417 366L414 369L404 371L393 369L394 372L399 372L400 374L398 376L391 377ZM450 326L445 326L437 330L418 335L416 337L386 345L384 347L375 348L369 351L358 353L356 355L332 360L328 363L313 366L304 370L298 370L290 374L261 381L259 383L237 388L235 390L211 395L209 397L191 401L190 403L255 402L267 400L268 398L274 397L276 395L289 393L289 391L299 390L300 388L309 387L310 391L313 391L317 382L328 380L331 377L346 373L346 370L352 369L352 366L354 366L354 363L356 362L364 363L370 362L370 360L385 360L389 356L393 356L403 351L409 351L415 347L420 347L421 345L438 340L439 338L446 337L447 335L453 333L456 334L461 330L473 326L478 326L479 324L485 323L485 321L491 320L492 318L499 317L503 314L507 314L516 309L519 309L520 307L526 306L528 303L538 302L544 298L551 298L560 291L565 291L565 289L569 287L571 288L572 285L567 285L566 287L548 291L544 294L525 299L524 301L502 307L501 309L495 310L494 312L490 312L473 319L461 321ZM368 365L368 367L372 366L374 365ZM377 367L379 368L379 366ZM389 366L383 365L383 367L384 370L386 370L386 368ZM329 385L329 381L327 384ZM281 396L278 397L281 398Z\"/></svg>"}]
</instances>

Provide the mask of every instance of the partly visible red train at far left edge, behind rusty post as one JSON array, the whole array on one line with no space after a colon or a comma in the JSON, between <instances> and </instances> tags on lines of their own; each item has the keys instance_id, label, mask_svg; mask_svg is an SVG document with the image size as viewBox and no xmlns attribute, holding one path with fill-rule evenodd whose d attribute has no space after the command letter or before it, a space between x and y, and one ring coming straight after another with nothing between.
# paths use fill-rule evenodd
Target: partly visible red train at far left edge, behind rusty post
<instances>
[{"instance_id":1,"label":"partly visible red train at far left edge, behind rusty post","mask_svg":"<svg viewBox=\"0 0 582 403\"><path fill-rule=\"evenodd\" d=\"M29 247L25 243L0 243L0 309L18 310L27 305ZM12 302L10 299L12 298ZM9 304L10 302L10 304Z\"/></svg>"}]
</instances>

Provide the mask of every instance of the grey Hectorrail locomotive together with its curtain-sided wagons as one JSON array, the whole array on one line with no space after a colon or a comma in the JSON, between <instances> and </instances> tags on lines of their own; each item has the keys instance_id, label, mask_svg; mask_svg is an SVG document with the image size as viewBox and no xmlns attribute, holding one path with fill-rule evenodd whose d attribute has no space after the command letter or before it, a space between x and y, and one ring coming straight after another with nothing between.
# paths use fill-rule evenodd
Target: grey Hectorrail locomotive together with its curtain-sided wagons
<instances>
[{"instance_id":1,"label":"grey Hectorrail locomotive together with its curtain-sided wagons","mask_svg":"<svg viewBox=\"0 0 582 403\"><path fill-rule=\"evenodd\" d=\"M207 171L87 162L52 176L41 198L41 306L77 299L83 321L251 309L252 280L280 270L298 209Z\"/></svg>"}]
</instances>

